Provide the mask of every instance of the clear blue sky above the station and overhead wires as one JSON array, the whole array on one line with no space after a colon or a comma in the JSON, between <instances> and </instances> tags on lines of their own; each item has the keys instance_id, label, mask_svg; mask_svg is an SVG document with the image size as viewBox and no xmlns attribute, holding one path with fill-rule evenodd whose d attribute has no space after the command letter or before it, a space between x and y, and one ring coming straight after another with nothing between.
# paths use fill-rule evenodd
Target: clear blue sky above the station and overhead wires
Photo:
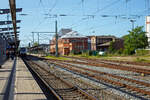
<instances>
[{"instance_id":1,"label":"clear blue sky above the station and overhead wires","mask_svg":"<svg viewBox=\"0 0 150 100\"><path fill-rule=\"evenodd\" d=\"M18 24L21 27L19 37L21 46L25 46L32 41L32 31L54 32L56 19L58 20L58 30L72 28L83 35L115 35L121 37L128 34L128 30L131 30L130 19L136 20L135 26L145 26L145 16L149 15L148 8L150 8L148 1L16 0L17 7L23 8L22 13L28 14L27 16L20 16L21 13L17 14L17 19L22 20ZM8 0L1 0L0 8L8 7ZM67 16L49 17L49 15L55 14L66 14ZM94 17L87 15L94 15ZM140 17L133 17L132 15L139 15ZM0 20L5 19L6 15L0 15ZM40 43L48 43L52 35L40 34ZM37 41L37 35L35 35L35 39Z\"/></svg>"}]
</instances>

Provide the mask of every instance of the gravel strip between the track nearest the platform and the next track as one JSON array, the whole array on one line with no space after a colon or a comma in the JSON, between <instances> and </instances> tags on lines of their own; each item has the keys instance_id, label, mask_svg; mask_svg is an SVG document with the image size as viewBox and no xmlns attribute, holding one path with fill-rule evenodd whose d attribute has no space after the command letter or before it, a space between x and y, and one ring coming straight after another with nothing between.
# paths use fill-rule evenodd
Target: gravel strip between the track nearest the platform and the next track
<instances>
[{"instance_id":1,"label":"gravel strip between the track nearest the platform and the next track","mask_svg":"<svg viewBox=\"0 0 150 100\"><path fill-rule=\"evenodd\" d=\"M62 77L64 80L79 86L89 94L92 94L100 100L127 100L126 98L121 97L120 95L114 94L110 91L106 91L104 87L101 87L97 84L88 82L86 79L82 79L78 75L72 74L68 71L61 70L60 68L50 65L50 71L58 77Z\"/></svg>"}]
</instances>

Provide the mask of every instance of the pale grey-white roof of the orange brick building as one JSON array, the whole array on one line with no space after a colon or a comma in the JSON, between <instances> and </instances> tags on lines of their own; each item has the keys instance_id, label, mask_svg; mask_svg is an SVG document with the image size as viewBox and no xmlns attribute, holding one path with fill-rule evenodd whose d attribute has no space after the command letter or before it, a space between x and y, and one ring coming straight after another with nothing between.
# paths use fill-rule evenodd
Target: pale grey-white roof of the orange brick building
<instances>
[{"instance_id":1,"label":"pale grey-white roof of the orange brick building","mask_svg":"<svg viewBox=\"0 0 150 100\"><path fill-rule=\"evenodd\" d=\"M79 34L77 31L71 31L61 36L61 38L87 38L87 37Z\"/></svg>"}]
</instances>

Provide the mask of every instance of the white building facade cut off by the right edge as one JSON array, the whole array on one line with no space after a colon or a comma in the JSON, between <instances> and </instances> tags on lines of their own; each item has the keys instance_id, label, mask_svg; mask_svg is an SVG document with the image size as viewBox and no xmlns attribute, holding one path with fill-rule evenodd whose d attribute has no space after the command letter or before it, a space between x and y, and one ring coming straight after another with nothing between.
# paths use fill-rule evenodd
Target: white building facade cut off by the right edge
<instances>
[{"instance_id":1,"label":"white building facade cut off by the right edge","mask_svg":"<svg viewBox=\"0 0 150 100\"><path fill-rule=\"evenodd\" d=\"M148 48L150 48L150 16L146 16L146 32L148 37Z\"/></svg>"}]
</instances>

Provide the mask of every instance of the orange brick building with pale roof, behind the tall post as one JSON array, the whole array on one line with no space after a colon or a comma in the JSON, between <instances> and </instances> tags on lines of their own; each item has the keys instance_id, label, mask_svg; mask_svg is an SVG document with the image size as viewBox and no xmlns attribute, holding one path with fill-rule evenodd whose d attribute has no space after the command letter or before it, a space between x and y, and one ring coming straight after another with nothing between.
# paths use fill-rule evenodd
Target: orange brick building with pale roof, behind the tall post
<instances>
[{"instance_id":1,"label":"orange brick building with pale roof, behind the tall post","mask_svg":"<svg viewBox=\"0 0 150 100\"><path fill-rule=\"evenodd\" d=\"M55 53L55 38L52 39L50 45L50 53ZM71 31L63 35L59 35L58 53L60 55L68 55L71 52L80 53L88 50L88 38L80 35L76 31Z\"/></svg>"}]
</instances>

